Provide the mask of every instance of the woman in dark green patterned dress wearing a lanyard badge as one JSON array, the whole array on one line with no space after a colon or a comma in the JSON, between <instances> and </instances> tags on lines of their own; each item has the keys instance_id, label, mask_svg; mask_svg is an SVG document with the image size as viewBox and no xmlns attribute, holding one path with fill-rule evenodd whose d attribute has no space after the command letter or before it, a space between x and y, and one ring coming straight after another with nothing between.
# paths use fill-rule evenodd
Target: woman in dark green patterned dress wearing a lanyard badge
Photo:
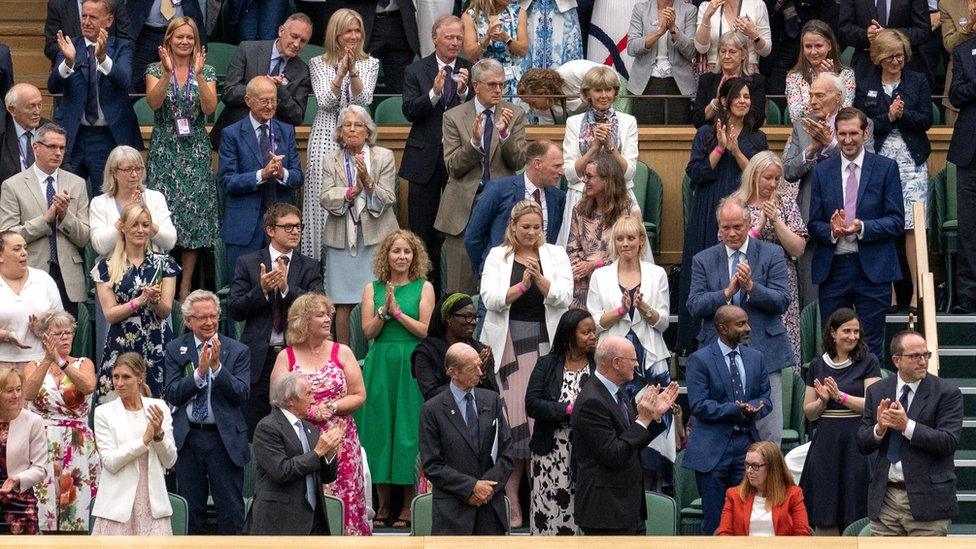
<instances>
[{"instance_id":1,"label":"woman in dark green patterned dress wearing a lanyard badge","mask_svg":"<svg viewBox=\"0 0 976 549\"><path fill-rule=\"evenodd\" d=\"M205 125L217 109L217 75L205 58L193 19L174 17L159 62L146 67L146 102L156 111L146 186L163 193L173 212L182 249L180 301L192 289L197 251L212 247L217 234L217 186Z\"/></svg>"}]
</instances>

